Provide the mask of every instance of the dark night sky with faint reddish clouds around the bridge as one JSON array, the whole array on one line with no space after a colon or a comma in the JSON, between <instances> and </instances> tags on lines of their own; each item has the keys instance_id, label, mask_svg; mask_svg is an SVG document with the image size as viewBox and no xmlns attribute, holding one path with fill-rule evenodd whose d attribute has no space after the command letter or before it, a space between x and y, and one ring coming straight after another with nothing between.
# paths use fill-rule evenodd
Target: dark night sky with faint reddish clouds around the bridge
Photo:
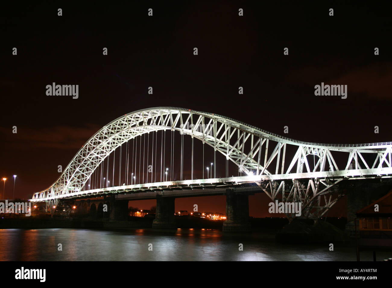
<instances>
[{"instance_id":1,"label":"dark night sky with faint reddish clouds around the bridge","mask_svg":"<svg viewBox=\"0 0 392 288\"><path fill-rule=\"evenodd\" d=\"M392 141L392 20L385 6L64 2L5 6L1 16L5 197L13 174L16 196L31 198L103 125L149 107L212 112L301 141ZM53 82L79 85L78 99L47 96ZM347 85L347 99L315 96L321 82ZM267 201L251 196L250 216L269 216ZM191 211L194 203L225 212L225 196L176 199L176 210ZM149 209L154 201L129 205ZM328 216L341 216L344 205L342 199Z\"/></svg>"}]
</instances>

